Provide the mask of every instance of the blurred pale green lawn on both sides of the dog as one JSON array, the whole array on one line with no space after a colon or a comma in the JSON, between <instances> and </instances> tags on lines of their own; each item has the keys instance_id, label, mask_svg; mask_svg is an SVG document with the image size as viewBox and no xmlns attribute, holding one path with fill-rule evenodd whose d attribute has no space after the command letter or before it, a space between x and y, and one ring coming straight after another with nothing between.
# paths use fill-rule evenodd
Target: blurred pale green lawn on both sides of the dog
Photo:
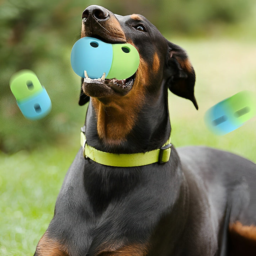
<instances>
[{"instance_id":1,"label":"blurred pale green lawn on both sides of the dog","mask_svg":"<svg viewBox=\"0 0 256 256\"><path fill-rule=\"evenodd\" d=\"M242 90L256 92L256 43L214 38L171 41L190 55L199 105L196 111L190 101L170 96L172 143L208 145L256 161L256 118L222 137L210 133L203 121L206 110L219 101ZM33 255L53 217L66 170L79 149L79 130L71 138L30 153L0 154L0 255Z\"/></svg>"}]
</instances>

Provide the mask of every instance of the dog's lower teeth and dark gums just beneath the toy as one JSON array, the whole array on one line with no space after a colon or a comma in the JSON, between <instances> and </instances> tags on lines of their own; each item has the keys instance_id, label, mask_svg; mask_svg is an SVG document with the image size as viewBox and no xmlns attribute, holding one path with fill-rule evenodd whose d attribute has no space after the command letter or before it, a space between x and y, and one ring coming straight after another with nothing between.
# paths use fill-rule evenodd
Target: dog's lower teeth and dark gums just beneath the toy
<instances>
[{"instance_id":1,"label":"dog's lower teeth and dark gums just beneath the toy","mask_svg":"<svg viewBox=\"0 0 256 256\"><path fill-rule=\"evenodd\" d=\"M134 84L135 77L136 77L136 73L134 73L132 76L130 76L129 78L126 78L126 79L121 79L121 80L116 79L116 78L106 79L106 73L103 73L101 78L91 79L87 75L86 70L84 71L84 74L85 74L84 84L83 84L84 89L87 85L89 86L90 84L95 84L95 85L109 87L113 91L115 91L121 95L125 95L127 92L130 91L130 89L132 88L132 86Z\"/></svg>"}]
</instances>

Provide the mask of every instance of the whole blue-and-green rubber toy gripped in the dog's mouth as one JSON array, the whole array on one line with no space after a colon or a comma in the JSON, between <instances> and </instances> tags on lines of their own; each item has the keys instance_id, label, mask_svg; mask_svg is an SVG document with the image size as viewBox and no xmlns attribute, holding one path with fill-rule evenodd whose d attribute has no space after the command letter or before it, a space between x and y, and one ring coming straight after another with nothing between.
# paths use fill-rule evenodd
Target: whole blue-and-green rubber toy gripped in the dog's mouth
<instances>
[{"instance_id":1,"label":"whole blue-and-green rubber toy gripped in the dog's mouth","mask_svg":"<svg viewBox=\"0 0 256 256\"><path fill-rule=\"evenodd\" d=\"M92 37L82 37L71 50L71 66L76 74L91 79L123 80L132 76L139 66L139 53L132 44L110 44Z\"/></svg>"}]
</instances>

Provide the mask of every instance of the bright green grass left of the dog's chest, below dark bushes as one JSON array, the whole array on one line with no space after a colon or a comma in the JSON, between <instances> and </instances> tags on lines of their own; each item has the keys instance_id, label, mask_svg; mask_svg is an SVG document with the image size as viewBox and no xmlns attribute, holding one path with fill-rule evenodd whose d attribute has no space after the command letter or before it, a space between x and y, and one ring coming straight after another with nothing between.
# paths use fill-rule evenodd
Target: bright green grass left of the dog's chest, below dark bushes
<instances>
[{"instance_id":1,"label":"bright green grass left of the dog's chest, below dark bushes","mask_svg":"<svg viewBox=\"0 0 256 256\"><path fill-rule=\"evenodd\" d=\"M79 146L79 136L77 142ZM58 191L75 154L69 146L0 155L0 255L35 251L53 217Z\"/></svg>"}]
</instances>

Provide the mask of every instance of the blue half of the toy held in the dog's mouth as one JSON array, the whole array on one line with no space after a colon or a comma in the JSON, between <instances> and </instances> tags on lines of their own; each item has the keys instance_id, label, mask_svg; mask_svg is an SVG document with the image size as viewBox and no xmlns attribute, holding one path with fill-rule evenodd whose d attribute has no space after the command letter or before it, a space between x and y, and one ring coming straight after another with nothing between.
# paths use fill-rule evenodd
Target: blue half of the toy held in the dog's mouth
<instances>
[{"instance_id":1,"label":"blue half of the toy held in the dog's mouth","mask_svg":"<svg viewBox=\"0 0 256 256\"><path fill-rule=\"evenodd\" d=\"M113 59L112 44L92 37L82 37L71 50L71 66L76 74L84 76L87 71L91 79L101 78L110 71ZM97 68L96 68L97 67Z\"/></svg>"}]
</instances>

